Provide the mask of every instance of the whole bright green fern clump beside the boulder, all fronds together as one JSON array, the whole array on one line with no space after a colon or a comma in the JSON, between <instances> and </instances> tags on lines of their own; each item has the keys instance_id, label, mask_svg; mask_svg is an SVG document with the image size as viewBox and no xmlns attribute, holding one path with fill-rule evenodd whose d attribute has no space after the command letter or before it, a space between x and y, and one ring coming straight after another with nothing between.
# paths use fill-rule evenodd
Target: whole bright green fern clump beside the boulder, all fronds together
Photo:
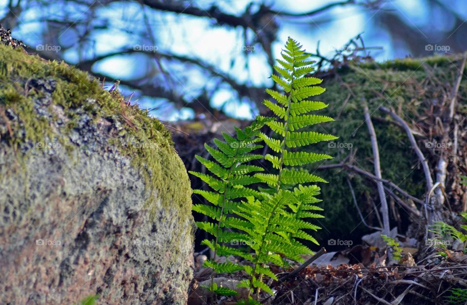
<instances>
[{"instance_id":1,"label":"whole bright green fern clump beside the boulder, all fronds together","mask_svg":"<svg viewBox=\"0 0 467 305\"><path fill-rule=\"evenodd\" d=\"M324 92L315 86L321 79L307 77L313 72L310 55L302 50L295 40L288 38L282 59L274 66L277 74L271 75L274 83L281 89L266 90L273 101L265 100L264 105L271 110L271 117L259 116L245 131L237 129L236 137L224 134L224 140L215 140L218 149L205 145L215 161L197 156L198 161L216 177L191 172L206 182L213 191L195 190L212 205L197 204L193 210L209 216L216 222L198 222L198 228L213 235L212 240L204 240L214 251L214 258L205 262L216 273L243 271L248 275L239 287L255 291L255 298L248 296L247 303L257 303L261 290L272 294L264 283L264 277L277 280L270 265L284 267L287 259L302 262L303 254L312 254L303 240L318 244L307 231L320 229L308 221L309 218L323 217L315 203L321 201L315 196L320 194L317 185L306 183L326 182L303 169L303 165L332 158L329 155L306 151L306 147L337 137L301 131L315 124L333 121L332 118L312 114L311 111L327 107L323 102L307 100L308 97ZM260 132L264 125L270 134ZM299 131L300 130L300 131ZM270 153L266 156L252 154L263 141ZM264 158L270 162L273 173L259 173L263 168L246 164ZM264 183L264 187L256 185ZM247 187L246 185L253 185ZM235 232L232 231L235 229ZM249 247L237 249L232 242L241 241ZM231 245L226 243L230 242ZM236 255L248 264L217 263L216 255ZM214 285L211 291L232 295L234 290Z\"/></svg>"}]
</instances>

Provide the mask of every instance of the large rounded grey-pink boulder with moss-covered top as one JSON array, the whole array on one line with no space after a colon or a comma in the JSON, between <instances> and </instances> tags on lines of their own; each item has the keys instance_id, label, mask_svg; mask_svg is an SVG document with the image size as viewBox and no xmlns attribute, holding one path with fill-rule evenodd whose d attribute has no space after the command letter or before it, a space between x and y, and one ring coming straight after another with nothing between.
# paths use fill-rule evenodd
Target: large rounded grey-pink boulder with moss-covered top
<instances>
[{"instance_id":1,"label":"large rounded grey-pink boulder with moss-covered top","mask_svg":"<svg viewBox=\"0 0 467 305\"><path fill-rule=\"evenodd\" d=\"M184 304L190 182L117 88L0 45L0 303Z\"/></svg>"}]
</instances>

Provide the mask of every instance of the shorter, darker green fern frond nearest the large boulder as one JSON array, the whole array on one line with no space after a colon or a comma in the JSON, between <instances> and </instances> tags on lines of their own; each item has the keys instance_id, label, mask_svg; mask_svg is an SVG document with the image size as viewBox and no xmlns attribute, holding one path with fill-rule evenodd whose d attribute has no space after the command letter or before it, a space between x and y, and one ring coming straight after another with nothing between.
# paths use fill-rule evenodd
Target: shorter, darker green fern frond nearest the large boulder
<instances>
[{"instance_id":1,"label":"shorter, darker green fern frond nearest the large boulder","mask_svg":"<svg viewBox=\"0 0 467 305\"><path fill-rule=\"evenodd\" d=\"M212 205L195 204L193 206L193 211L204 214L216 221L216 223L197 222L197 226L199 229L210 233L214 237L213 240L204 240L202 243L214 251L214 257L210 260L206 260L204 266L213 269L211 286L207 288L217 294L233 295L236 294L236 292L225 287L217 287L215 285L216 283L213 281L215 273L236 272L243 270L243 267L233 263L219 264L216 262L216 256L237 255L245 259L250 259L250 255L247 252L221 245L221 243L248 240L246 234L227 231L229 228L235 228L235 225L241 228L246 227L242 227L240 222L235 223L232 222L232 220L226 223L225 215L232 213L237 206L238 203L235 202L234 199L254 196L258 193L247 185L258 182L259 179L254 178L252 173L263 171L264 169L245 163L263 158L262 155L251 154L251 152L257 148L263 147L257 144L257 142L261 141L257 135L259 134L260 128L269 120L270 119L267 118L258 118L251 126L245 128L245 130L237 128L236 137L224 133L223 138L225 141L214 139L214 144L216 144L217 148L204 144L214 161L209 161L200 156L196 156L196 158L212 173L212 175L190 172L190 174L203 180L213 190L193 191L195 194L204 197L208 202L212 203ZM247 225L248 224L243 224L243 226Z\"/></svg>"}]
</instances>

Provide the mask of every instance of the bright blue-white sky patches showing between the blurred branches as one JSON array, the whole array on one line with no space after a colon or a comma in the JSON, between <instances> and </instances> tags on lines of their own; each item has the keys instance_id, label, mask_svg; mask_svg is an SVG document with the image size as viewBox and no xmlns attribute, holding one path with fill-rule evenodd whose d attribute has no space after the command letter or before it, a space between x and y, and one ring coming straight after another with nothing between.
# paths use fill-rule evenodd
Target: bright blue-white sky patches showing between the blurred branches
<instances>
[{"instance_id":1,"label":"bright blue-white sky patches showing between the blurred branches","mask_svg":"<svg viewBox=\"0 0 467 305\"><path fill-rule=\"evenodd\" d=\"M0 0L0 7L5 7L6 0ZM35 46L40 44L40 33L44 31L43 24L35 22L40 16L62 16L64 12L71 14L74 18L81 18L86 11L73 10L58 3L51 5L44 14L43 9L37 10L31 6L21 15L21 26L14 30L14 36L22 39L26 44ZM227 12L239 14L251 0L216 1ZM261 3L260 1L255 1ZM304 12L313 10L335 0L269 0L272 8L276 11ZM383 9L392 9L398 11L403 18L407 18L418 28L421 35L423 29L427 26L449 27L449 22L430 22L427 24L427 7L425 0L394 0L386 1ZM454 3L455 2L455 3ZM202 7L209 7L213 1L196 1ZM290 5L293 3L293 5ZM460 1L453 1L453 4ZM456 4L457 5L457 4ZM453 6L456 9L455 6ZM384 61L395 57L403 57L408 54L408 49L402 44L395 46L391 37L385 31L378 31L374 23L374 15L377 11L364 10L357 6L335 7L324 14L314 18L304 18L310 25L304 25L296 22L290 22L286 18L279 20L280 30L278 40L274 45L274 54L277 57L287 36L292 36L299 40L307 50L314 51L320 43L320 52L322 54L333 54L336 49L341 48L350 38L364 32L364 40L367 46L380 46L382 51L372 52L373 56ZM6 10L3 10L6 13ZM175 54L192 56L200 58L206 62L215 65L223 72L234 76L238 82L248 82L253 85L269 83L269 74L271 69L268 66L266 56L262 54L259 45L244 46L242 43L243 32L241 29L226 29L213 24L212 20L193 18L187 16L178 16L176 14L167 14L160 12L148 13L148 22L151 24L152 39L141 41L136 33L147 33L142 22L132 22L132 20L142 20L143 10L141 5L136 2L125 4L112 3L107 7L97 9L97 14L102 18L108 18L109 28L96 32L88 52L78 53L76 48L72 48L65 53L65 58L74 63L82 57L92 57L93 55L106 54L125 48L132 48L137 45L145 45L156 48L160 52L173 52ZM1 14L0 11L0 16ZM434 16L439 20L444 20L444 16ZM324 20L324 21L323 21ZM130 29L130 31L127 31ZM131 31L136 32L132 34ZM250 38L253 38L250 35ZM66 31L60 37L61 43L72 43L76 40L76 35L72 30ZM152 43L152 41L155 41ZM243 49L250 48L248 57L243 56ZM162 62L162 65L166 63ZM248 68L246 68L248 64ZM108 60L100 62L94 67L98 72L106 72L116 78L137 78L144 75L152 67L150 62L144 56L114 56ZM168 86L174 86L183 91L185 97L196 96L204 88L211 88L216 85L215 79L207 78L199 70L187 70L185 65L173 65L167 67L172 75L172 83ZM169 71L170 70L170 71ZM128 94L131 92L127 92ZM214 106L220 106L229 102L227 110L237 117L250 118L251 108L248 101L241 101L228 87L218 88L213 98ZM143 108L152 108L157 104L153 98L140 98L139 104ZM163 115L168 120L188 118L192 114L188 109L182 111L173 111L170 108L162 110ZM155 115L162 115L155 113Z\"/></svg>"}]
</instances>

